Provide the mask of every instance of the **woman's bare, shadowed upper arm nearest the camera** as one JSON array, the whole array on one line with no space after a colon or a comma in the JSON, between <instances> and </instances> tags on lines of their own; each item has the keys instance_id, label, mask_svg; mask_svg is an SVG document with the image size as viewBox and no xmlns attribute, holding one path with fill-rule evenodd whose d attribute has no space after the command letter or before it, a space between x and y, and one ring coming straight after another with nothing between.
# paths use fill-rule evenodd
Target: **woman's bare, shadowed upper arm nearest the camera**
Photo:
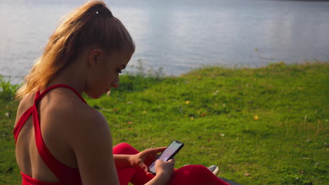
<instances>
[{"instance_id":1,"label":"woman's bare, shadowed upper arm nearest the camera","mask_svg":"<svg viewBox=\"0 0 329 185\"><path fill-rule=\"evenodd\" d=\"M104 116L89 109L72 123L70 146L75 152L82 184L119 184L112 154L112 136Z\"/></svg>"}]
</instances>

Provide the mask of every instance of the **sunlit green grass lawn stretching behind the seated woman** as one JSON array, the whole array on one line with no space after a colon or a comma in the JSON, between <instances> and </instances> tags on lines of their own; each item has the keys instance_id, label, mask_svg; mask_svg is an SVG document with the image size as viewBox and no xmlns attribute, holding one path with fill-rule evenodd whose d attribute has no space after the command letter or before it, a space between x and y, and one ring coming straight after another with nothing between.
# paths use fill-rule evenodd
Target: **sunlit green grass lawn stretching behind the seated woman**
<instances>
[{"instance_id":1,"label":"sunlit green grass lawn stretching behind the seated woman","mask_svg":"<svg viewBox=\"0 0 329 185\"><path fill-rule=\"evenodd\" d=\"M175 167L216 164L220 177L241 184L328 184L328 71L328 63L280 62L179 77L125 75L110 97L86 101L107 118L114 144L143 150L183 142ZM1 100L0 184L20 181L16 107Z\"/></svg>"}]
</instances>

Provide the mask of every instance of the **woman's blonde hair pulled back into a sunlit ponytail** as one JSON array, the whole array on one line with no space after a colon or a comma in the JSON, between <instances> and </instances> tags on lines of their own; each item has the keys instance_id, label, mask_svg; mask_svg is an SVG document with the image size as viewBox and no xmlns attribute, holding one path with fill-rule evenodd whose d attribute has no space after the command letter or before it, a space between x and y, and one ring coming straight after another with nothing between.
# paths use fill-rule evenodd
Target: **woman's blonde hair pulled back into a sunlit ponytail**
<instances>
[{"instance_id":1,"label":"woman's blonde hair pulled back into a sunlit ponytail","mask_svg":"<svg viewBox=\"0 0 329 185\"><path fill-rule=\"evenodd\" d=\"M115 18L103 1L89 1L68 14L49 38L44 53L34 62L16 100L46 88L51 79L86 46L103 50L129 50L134 53L133 39L122 22Z\"/></svg>"}]
</instances>

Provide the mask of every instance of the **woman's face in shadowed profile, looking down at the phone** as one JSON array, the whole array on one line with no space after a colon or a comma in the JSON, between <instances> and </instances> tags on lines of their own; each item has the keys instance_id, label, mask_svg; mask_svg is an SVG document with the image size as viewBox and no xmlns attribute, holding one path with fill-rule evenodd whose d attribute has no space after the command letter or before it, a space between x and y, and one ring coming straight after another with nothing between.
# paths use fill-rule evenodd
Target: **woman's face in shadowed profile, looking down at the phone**
<instances>
[{"instance_id":1,"label":"woman's face in shadowed profile, looking down at the phone","mask_svg":"<svg viewBox=\"0 0 329 185\"><path fill-rule=\"evenodd\" d=\"M91 57L91 75L85 93L94 99L101 97L111 88L119 88L119 74L127 67L132 53L127 51L103 51Z\"/></svg>"}]
</instances>

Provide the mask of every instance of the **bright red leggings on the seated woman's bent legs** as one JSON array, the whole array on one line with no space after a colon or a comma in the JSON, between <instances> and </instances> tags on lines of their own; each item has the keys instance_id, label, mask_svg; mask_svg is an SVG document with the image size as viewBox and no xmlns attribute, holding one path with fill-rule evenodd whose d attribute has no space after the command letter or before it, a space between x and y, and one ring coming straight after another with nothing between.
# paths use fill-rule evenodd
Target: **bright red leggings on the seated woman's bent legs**
<instances>
[{"instance_id":1,"label":"bright red leggings on the seated woman's bent legs","mask_svg":"<svg viewBox=\"0 0 329 185\"><path fill-rule=\"evenodd\" d=\"M118 144L113 148L113 154L129 154L134 155L138 153L136 149L127 143ZM146 165L150 165L152 160L146 159ZM122 169L117 170L119 176L120 185L127 185L129 181L132 184L146 184L153 177L148 177L146 173L141 169ZM181 184L216 184L216 185L229 185L226 182L219 179L216 175L210 172L207 167L202 165L186 165L178 170L175 170L172 175L172 179L168 182L169 185L181 185Z\"/></svg>"}]
</instances>

